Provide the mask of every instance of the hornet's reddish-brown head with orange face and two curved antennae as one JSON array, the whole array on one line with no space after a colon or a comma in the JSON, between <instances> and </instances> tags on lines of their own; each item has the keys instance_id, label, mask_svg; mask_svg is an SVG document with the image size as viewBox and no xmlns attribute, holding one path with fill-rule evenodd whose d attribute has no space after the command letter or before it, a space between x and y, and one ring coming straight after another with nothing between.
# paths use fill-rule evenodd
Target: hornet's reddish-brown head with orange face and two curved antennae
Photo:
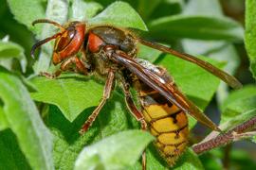
<instances>
[{"instance_id":1,"label":"hornet's reddish-brown head with orange face and two curved antennae","mask_svg":"<svg viewBox=\"0 0 256 170\"><path fill-rule=\"evenodd\" d=\"M73 55L76 55L80 51L86 28L84 23L70 22L64 26L61 26L53 21L40 19L34 21L32 25L38 23L49 23L54 26L58 26L61 31L51 37L46 38L45 40L35 43L31 49L31 56L33 56L36 48L53 39L56 39L52 54L52 62L55 65L62 62L64 59L68 59Z\"/></svg>"}]
</instances>

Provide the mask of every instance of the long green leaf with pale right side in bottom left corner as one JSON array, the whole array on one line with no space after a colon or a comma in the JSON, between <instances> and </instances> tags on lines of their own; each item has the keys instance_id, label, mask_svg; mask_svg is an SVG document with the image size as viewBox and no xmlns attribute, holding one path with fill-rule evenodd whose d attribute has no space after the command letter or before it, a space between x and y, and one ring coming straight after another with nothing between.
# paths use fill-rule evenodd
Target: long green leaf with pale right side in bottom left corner
<instances>
[{"instance_id":1,"label":"long green leaf with pale right side in bottom left corner","mask_svg":"<svg viewBox=\"0 0 256 170\"><path fill-rule=\"evenodd\" d=\"M51 135L22 81L0 69L0 97L9 128L33 169L53 169Z\"/></svg>"}]
</instances>

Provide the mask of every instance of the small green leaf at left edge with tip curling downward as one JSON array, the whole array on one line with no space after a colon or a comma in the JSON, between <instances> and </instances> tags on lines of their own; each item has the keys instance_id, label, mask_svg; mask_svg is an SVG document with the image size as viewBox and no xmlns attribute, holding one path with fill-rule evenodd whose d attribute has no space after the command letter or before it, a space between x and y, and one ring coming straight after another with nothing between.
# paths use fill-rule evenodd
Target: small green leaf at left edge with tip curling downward
<instances>
[{"instance_id":1,"label":"small green leaf at left edge with tip curling downward","mask_svg":"<svg viewBox=\"0 0 256 170\"><path fill-rule=\"evenodd\" d=\"M12 58L19 59L23 72L26 72L27 59L23 47L14 42L0 41L0 60Z\"/></svg>"}]
</instances>

